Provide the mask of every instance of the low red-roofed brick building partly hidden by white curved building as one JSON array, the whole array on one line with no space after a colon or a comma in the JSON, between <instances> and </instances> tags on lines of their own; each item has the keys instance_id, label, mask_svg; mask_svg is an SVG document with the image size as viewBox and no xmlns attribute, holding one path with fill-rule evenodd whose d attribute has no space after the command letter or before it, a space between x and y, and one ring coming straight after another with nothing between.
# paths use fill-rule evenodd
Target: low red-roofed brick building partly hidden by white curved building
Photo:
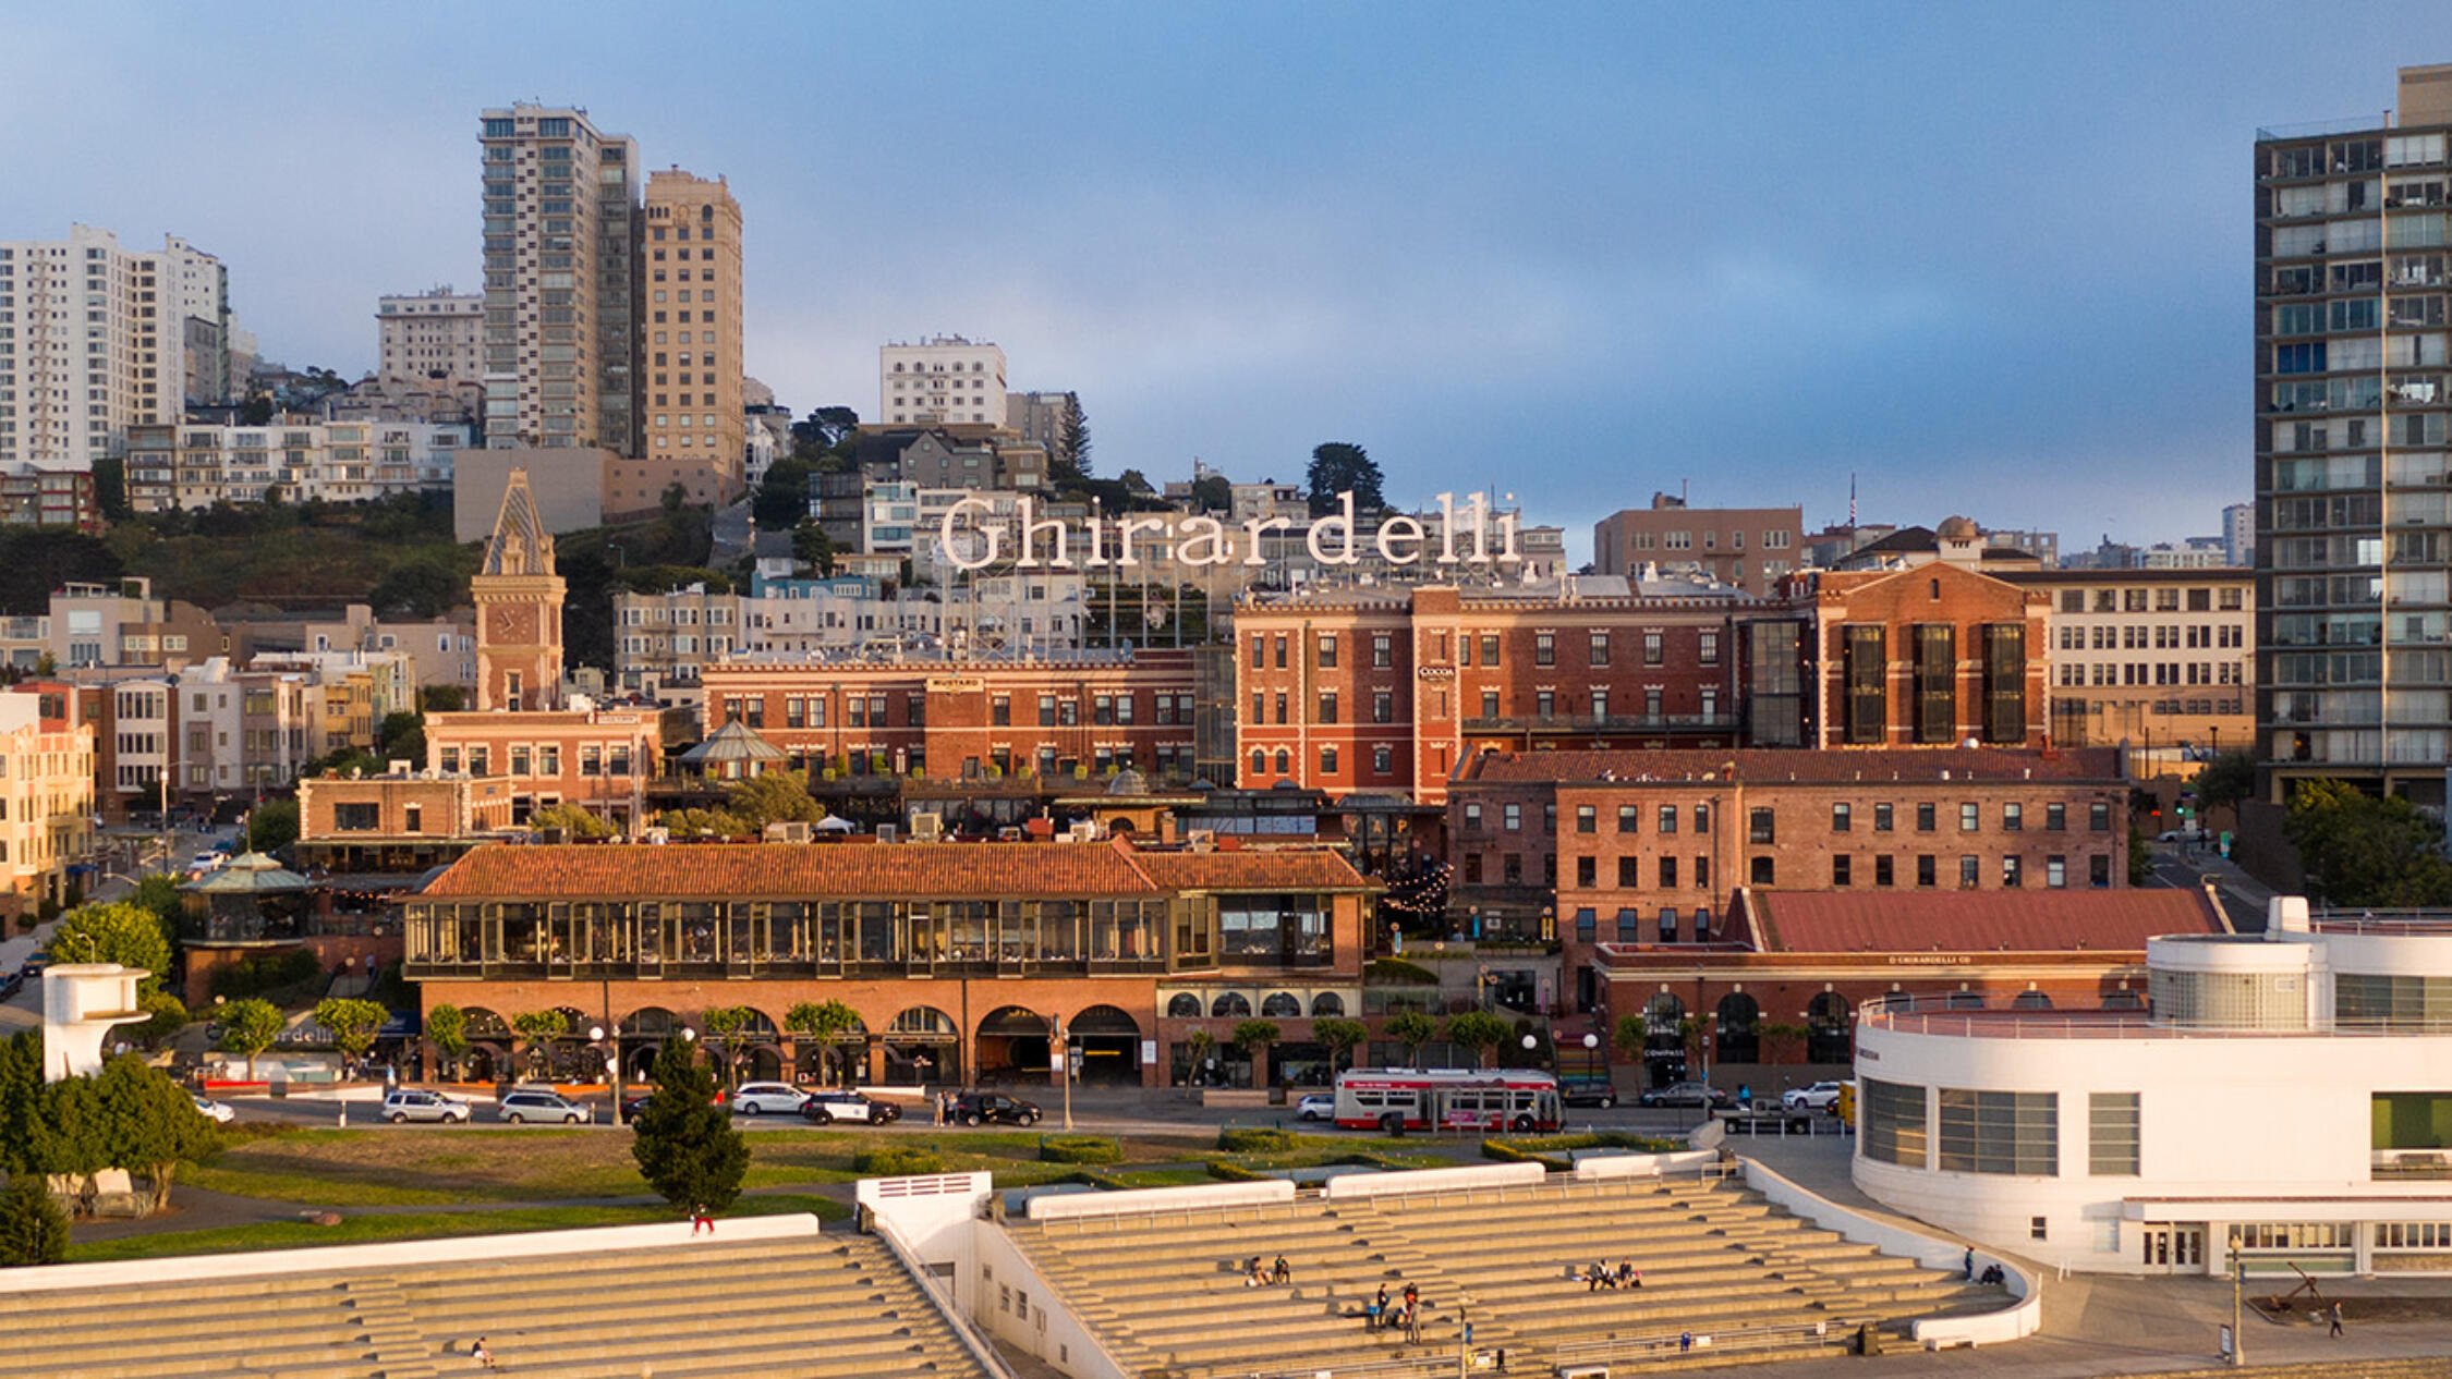
<instances>
[{"instance_id":1,"label":"low red-roofed brick building partly hidden by white curved building","mask_svg":"<svg viewBox=\"0 0 2452 1379\"><path fill-rule=\"evenodd\" d=\"M1761 1097L1846 1075L1866 1002L2143 1009L2146 941L2165 933L2229 933L2229 921L2204 889L1743 887L1721 943L1601 943L1594 1024L1606 1034L1621 1016L1645 1019L1643 1085L1709 1073L1721 1088L1751 1083Z\"/></svg>"}]
</instances>

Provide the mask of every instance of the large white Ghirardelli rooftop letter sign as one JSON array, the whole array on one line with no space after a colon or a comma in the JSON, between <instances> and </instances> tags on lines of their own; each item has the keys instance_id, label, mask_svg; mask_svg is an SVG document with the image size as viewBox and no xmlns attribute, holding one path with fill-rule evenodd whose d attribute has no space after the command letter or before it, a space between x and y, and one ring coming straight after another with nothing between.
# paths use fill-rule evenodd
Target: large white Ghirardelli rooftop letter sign
<instances>
[{"instance_id":1,"label":"large white Ghirardelli rooftop letter sign","mask_svg":"<svg viewBox=\"0 0 2452 1379\"><path fill-rule=\"evenodd\" d=\"M1523 554L1515 549L1518 514L1491 514L1479 492L1464 505L1456 502L1456 495L1442 492L1437 509L1427 522L1393 512L1380 519L1378 532L1358 536L1354 492L1339 492L1334 512L1314 517L1302 541L1312 561L1322 566L1358 566L1366 549L1390 566L1523 563ZM964 497L944 509L937 541L946 563L956 571L983 571L1003 563L1015 571L1130 571L1145 561L1148 551L1165 546L1175 551L1177 566L1265 566L1270 561L1263 554L1263 539L1295 529L1285 517L1253 517L1231 524L1209 514L1179 517L1172 512L1040 517L1035 497L1015 502L1010 522L981 527L978 519L993 512L981 497ZM1086 546L1079 561L1074 558L1076 546Z\"/></svg>"}]
</instances>

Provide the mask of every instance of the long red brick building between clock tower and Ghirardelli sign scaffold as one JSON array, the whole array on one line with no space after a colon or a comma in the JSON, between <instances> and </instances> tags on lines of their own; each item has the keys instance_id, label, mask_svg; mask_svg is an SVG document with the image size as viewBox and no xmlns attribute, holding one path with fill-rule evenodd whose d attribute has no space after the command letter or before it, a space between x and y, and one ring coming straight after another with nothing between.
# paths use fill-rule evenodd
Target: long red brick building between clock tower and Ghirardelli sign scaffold
<instances>
[{"instance_id":1,"label":"long red brick building between clock tower and Ghirardelli sign scaffold","mask_svg":"<svg viewBox=\"0 0 2452 1379\"><path fill-rule=\"evenodd\" d=\"M709 732L741 720L848 776L1189 781L1204 713L1189 649L733 656L704 686Z\"/></svg>"}]
</instances>

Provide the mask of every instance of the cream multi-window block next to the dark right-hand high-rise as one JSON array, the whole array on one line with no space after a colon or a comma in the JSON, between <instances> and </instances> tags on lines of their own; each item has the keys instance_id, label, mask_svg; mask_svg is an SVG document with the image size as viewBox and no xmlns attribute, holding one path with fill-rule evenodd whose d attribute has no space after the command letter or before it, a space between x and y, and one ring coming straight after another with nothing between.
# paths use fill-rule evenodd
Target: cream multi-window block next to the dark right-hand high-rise
<instances>
[{"instance_id":1,"label":"cream multi-window block next to the dark right-hand high-rise","mask_svg":"<svg viewBox=\"0 0 2452 1379\"><path fill-rule=\"evenodd\" d=\"M2033 571L2045 593L2052 742L2148 754L2253 745L2256 588L2241 568Z\"/></svg>"}]
</instances>

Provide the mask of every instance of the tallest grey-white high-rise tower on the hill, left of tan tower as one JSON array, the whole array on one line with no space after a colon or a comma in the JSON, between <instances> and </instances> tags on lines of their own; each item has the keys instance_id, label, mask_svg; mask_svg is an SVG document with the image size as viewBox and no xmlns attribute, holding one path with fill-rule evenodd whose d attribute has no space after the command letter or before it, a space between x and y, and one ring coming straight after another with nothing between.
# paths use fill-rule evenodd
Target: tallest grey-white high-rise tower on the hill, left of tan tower
<instances>
[{"instance_id":1,"label":"tallest grey-white high-rise tower on the hill, left of tan tower","mask_svg":"<svg viewBox=\"0 0 2452 1379\"><path fill-rule=\"evenodd\" d=\"M485 443L638 453L638 145L579 108L485 110Z\"/></svg>"}]
</instances>

